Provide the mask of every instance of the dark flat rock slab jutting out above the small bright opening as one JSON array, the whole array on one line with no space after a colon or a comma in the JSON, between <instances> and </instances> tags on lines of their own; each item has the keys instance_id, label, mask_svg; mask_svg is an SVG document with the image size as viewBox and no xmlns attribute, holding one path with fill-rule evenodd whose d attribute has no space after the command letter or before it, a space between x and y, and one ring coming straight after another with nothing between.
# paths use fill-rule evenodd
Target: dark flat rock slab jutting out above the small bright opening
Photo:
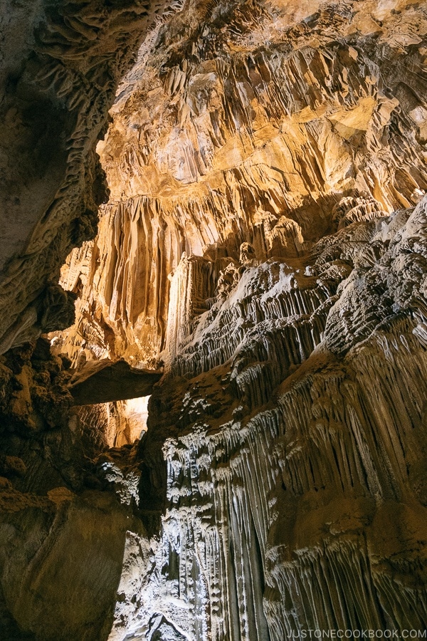
<instances>
[{"instance_id":1,"label":"dark flat rock slab jutting out above the small bright opening","mask_svg":"<svg viewBox=\"0 0 427 641\"><path fill-rule=\"evenodd\" d=\"M125 360L112 363L103 360L86 363L71 379L70 393L74 405L94 405L152 394L153 385L162 378L162 372L137 370Z\"/></svg>"}]
</instances>

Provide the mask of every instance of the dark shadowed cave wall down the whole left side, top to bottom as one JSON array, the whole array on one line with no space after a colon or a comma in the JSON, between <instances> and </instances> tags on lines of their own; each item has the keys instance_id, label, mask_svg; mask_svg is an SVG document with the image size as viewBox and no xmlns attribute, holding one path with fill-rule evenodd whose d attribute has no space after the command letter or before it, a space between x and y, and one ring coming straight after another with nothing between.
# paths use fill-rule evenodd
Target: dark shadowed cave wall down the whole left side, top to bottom
<instances>
[{"instance_id":1,"label":"dark shadowed cave wall down the whole left side, top to bottom","mask_svg":"<svg viewBox=\"0 0 427 641\"><path fill-rule=\"evenodd\" d=\"M71 409L70 362L36 339L73 323L75 296L58 286L60 266L97 233L108 189L95 145L117 83L163 9L173 3L1 3L4 641L106 638L131 544L128 528L132 546L147 541L142 521L95 475L105 439L95 430L83 433Z\"/></svg>"}]
</instances>

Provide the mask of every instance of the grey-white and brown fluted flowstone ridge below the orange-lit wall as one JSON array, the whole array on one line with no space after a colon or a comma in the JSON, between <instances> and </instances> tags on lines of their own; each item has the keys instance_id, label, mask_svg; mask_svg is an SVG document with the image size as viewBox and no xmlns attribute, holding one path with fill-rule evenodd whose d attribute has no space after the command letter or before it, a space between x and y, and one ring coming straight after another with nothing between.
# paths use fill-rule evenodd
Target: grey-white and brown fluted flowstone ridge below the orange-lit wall
<instances>
[{"instance_id":1,"label":"grey-white and brown fluted flowstone ridge below the orange-lit wall","mask_svg":"<svg viewBox=\"0 0 427 641\"><path fill-rule=\"evenodd\" d=\"M202 314L152 397L166 511L131 638L424 629L426 213L325 237L292 288L283 262L249 268Z\"/></svg>"}]
</instances>

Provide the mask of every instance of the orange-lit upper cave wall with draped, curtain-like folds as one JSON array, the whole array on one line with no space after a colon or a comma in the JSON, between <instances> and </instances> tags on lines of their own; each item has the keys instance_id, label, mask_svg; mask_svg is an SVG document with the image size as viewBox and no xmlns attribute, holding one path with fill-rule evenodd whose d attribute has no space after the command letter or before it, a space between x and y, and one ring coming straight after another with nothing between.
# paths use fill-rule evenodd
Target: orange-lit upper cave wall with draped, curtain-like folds
<instances>
[{"instance_id":1,"label":"orange-lit upper cave wall with draped, curtain-like folds","mask_svg":"<svg viewBox=\"0 0 427 641\"><path fill-rule=\"evenodd\" d=\"M100 232L63 268L83 294L68 353L85 341L157 358L183 252L215 283L243 242L258 260L295 257L337 224L416 204L426 29L406 2L194 3L159 28L97 147L111 191Z\"/></svg>"}]
</instances>

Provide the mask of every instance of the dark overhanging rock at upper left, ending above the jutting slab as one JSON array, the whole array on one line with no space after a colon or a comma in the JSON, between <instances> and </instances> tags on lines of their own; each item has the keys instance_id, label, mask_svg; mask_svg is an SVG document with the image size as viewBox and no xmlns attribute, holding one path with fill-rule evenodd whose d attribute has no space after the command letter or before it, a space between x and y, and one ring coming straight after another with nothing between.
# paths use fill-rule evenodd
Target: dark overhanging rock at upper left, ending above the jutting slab
<instances>
[{"instance_id":1,"label":"dark overhanging rock at upper left, ending above the jutting slab","mask_svg":"<svg viewBox=\"0 0 427 641\"><path fill-rule=\"evenodd\" d=\"M140 0L1 6L1 353L73 322L60 266L96 234L108 192L95 145L162 9Z\"/></svg>"}]
</instances>

